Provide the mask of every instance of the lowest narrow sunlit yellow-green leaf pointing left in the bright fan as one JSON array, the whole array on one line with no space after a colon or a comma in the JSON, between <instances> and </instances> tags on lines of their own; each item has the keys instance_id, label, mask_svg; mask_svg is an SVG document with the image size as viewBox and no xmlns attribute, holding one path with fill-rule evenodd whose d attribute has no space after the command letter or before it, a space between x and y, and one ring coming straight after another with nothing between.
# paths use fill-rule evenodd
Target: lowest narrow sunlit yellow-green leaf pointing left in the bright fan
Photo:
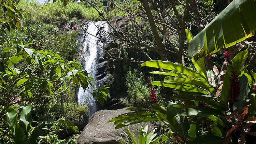
<instances>
[{"instance_id":1,"label":"lowest narrow sunlit yellow-green leaf pointing left in the bright fan","mask_svg":"<svg viewBox=\"0 0 256 144\"><path fill-rule=\"evenodd\" d=\"M200 92L200 93L204 93L204 94L207 93L207 91L204 91L204 90L201 90L199 88L192 87L192 86L186 86L186 85L183 85L183 84L163 83L162 81L151 82L151 84L152 85L157 85L157 86L163 86L163 87L170 87L170 88L182 90L182 91L185 91L185 92Z\"/></svg>"}]
</instances>

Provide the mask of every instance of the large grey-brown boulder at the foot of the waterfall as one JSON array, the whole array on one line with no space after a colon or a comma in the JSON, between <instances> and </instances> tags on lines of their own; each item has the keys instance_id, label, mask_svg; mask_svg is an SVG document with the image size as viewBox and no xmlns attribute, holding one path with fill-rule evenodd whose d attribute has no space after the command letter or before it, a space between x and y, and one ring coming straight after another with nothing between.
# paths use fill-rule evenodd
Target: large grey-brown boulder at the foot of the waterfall
<instances>
[{"instance_id":1,"label":"large grey-brown boulder at the foot of the waterfall","mask_svg":"<svg viewBox=\"0 0 256 144\"><path fill-rule=\"evenodd\" d=\"M96 112L88 124L85 126L83 132L77 140L77 144L121 144L119 139L127 141L125 134L125 128L115 129L113 126L114 122L107 123L108 120L124 113L129 113L132 111L126 111L125 109L117 110L101 110ZM140 124L142 127L148 125L148 131L154 129L154 125L150 122L145 122ZM135 138L138 140L138 129L139 124L134 124L128 126L128 129L133 133ZM122 131L123 130L123 131ZM127 133L127 132L126 132Z\"/></svg>"}]
</instances>

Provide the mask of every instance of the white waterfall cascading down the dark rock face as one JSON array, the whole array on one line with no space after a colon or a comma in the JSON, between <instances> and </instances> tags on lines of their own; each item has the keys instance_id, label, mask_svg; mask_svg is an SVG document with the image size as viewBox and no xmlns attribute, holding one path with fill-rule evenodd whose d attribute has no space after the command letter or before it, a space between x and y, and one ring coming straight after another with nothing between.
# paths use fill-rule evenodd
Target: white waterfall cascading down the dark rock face
<instances>
[{"instance_id":1,"label":"white waterfall cascading down the dark rock face","mask_svg":"<svg viewBox=\"0 0 256 144\"><path fill-rule=\"evenodd\" d=\"M102 47L106 47L108 43L102 39L107 39L105 37L104 31L109 32L109 25L106 21L97 21L93 23L89 21L83 29L86 31L83 33L81 38L82 46L81 49L83 51L81 61L83 68L90 73L89 76L95 79L94 86L95 88L102 87L103 82L97 81L97 72L100 68L100 61L103 57L103 49ZM96 36L96 37L95 37ZM97 38L98 37L98 38ZM101 38L101 39L99 39ZM81 50L80 49L80 50ZM93 93L93 87L89 86L89 91ZM87 90L84 91L82 87L79 88L77 93L77 98L79 104L86 104L88 107L88 117L90 117L99 109L98 104L96 103L96 99L92 96L92 94Z\"/></svg>"}]
</instances>

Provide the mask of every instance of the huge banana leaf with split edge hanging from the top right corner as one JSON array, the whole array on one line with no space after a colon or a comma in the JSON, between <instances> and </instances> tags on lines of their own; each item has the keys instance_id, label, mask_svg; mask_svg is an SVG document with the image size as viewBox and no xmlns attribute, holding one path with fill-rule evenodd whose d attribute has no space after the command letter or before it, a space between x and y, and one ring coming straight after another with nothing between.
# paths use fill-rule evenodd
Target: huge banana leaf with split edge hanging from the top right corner
<instances>
[{"instance_id":1,"label":"huge banana leaf with split edge hanging from the top right corner","mask_svg":"<svg viewBox=\"0 0 256 144\"><path fill-rule=\"evenodd\" d=\"M254 0L233 0L188 43L187 56L202 57L197 55L202 49L208 55L252 37L256 29L255 7Z\"/></svg>"}]
</instances>

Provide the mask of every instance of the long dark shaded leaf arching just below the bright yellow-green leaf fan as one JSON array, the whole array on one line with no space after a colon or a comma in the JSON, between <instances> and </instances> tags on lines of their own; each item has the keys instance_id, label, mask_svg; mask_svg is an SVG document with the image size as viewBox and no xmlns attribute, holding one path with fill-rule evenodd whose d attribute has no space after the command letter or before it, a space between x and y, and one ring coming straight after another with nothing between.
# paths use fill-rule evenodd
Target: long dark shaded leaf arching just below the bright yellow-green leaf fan
<instances>
[{"instance_id":1,"label":"long dark shaded leaf arching just below the bright yellow-green leaf fan","mask_svg":"<svg viewBox=\"0 0 256 144\"><path fill-rule=\"evenodd\" d=\"M200 101L205 104L209 104L220 111L228 110L228 106L221 100L203 95L175 95L172 99Z\"/></svg>"}]
</instances>

